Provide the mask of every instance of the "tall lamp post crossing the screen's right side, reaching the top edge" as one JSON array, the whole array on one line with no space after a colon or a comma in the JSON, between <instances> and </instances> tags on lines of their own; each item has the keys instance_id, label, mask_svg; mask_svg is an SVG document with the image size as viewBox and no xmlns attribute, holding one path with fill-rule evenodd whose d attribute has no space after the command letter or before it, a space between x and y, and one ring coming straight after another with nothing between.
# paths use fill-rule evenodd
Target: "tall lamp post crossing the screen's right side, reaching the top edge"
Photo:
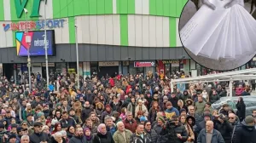
<instances>
[{"instance_id":1,"label":"tall lamp post crossing the screen's right side, reaching the top edge","mask_svg":"<svg viewBox=\"0 0 256 143\"><path fill-rule=\"evenodd\" d=\"M47 32L46 32L46 0L44 0L44 49L45 49L45 66L46 66L46 81L47 88L49 88L49 67L48 67L48 45L47 45Z\"/></svg>"}]
</instances>

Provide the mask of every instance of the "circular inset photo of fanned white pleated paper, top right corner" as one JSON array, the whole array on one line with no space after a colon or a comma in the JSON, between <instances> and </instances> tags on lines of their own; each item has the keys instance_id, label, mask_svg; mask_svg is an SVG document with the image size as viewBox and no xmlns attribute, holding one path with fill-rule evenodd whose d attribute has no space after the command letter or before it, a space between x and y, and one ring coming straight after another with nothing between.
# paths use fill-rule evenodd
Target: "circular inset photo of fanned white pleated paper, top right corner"
<instances>
[{"instance_id":1,"label":"circular inset photo of fanned white pleated paper, top right corner","mask_svg":"<svg viewBox=\"0 0 256 143\"><path fill-rule=\"evenodd\" d=\"M179 20L180 40L189 56L218 71L235 69L253 59L256 20L251 4L244 0L189 0Z\"/></svg>"}]
</instances>

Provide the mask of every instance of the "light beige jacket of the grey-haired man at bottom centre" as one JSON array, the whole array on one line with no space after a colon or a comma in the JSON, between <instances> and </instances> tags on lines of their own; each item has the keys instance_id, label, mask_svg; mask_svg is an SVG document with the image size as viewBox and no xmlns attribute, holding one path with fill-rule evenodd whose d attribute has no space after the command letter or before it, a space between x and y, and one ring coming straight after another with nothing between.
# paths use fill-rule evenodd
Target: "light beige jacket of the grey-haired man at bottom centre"
<instances>
[{"instance_id":1,"label":"light beige jacket of the grey-haired man at bottom centre","mask_svg":"<svg viewBox=\"0 0 256 143\"><path fill-rule=\"evenodd\" d=\"M113 140L114 140L115 143L130 143L131 135L132 135L132 133L128 129L125 129L125 137L123 136L123 134L119 130L117 130L113 134Z\"/></svg>"}]
</instances>

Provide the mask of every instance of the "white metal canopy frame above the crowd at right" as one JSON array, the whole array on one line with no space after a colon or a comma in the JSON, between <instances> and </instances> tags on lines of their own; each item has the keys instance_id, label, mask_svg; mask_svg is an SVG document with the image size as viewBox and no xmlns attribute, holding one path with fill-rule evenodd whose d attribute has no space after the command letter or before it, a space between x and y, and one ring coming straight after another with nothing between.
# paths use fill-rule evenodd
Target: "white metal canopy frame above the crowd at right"
<instances>
[{"instance_id":1,"label":"white metal canopy frame above the crowd at right","mask_svg":"<svg viewBox=\"0 0 256 143\"><path fill-rule=\"evenodd\" d=\"M255 75L254 75L255 74ZM179 78L172 79L170 82L170 87L173 91L173 85L175 83L209 83L209 82L225 82L230 81L230 97L232 96L232 83L237 80L251 80L256 79L256 68L232 71L232 72L223 72L199 77L188 77L188 78Z\"/></svg>"}]
</instances>

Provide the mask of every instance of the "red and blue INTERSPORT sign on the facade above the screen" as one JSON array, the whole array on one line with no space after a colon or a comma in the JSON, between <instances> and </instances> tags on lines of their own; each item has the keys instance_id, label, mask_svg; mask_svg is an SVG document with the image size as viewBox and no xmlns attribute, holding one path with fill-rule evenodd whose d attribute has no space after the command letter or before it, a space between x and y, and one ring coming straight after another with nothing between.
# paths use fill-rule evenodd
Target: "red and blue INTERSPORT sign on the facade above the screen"
<instances>
[{"instance_id":1,"label":"red and blue INTERSPORT sign on the facade above the screen","mask_svg":"<svg viewBox=\"0 0 256 143\"><path fill-rule=\"evenodd\" d=\"M62 28L64 26L64 19L60 20L46 20L46 28ZM41 30L44 29L44 20L36 21L20 21L18 23L3 24L3 30L8 31L32 31L32 30Z\"/></svg>"}]
</instances>

